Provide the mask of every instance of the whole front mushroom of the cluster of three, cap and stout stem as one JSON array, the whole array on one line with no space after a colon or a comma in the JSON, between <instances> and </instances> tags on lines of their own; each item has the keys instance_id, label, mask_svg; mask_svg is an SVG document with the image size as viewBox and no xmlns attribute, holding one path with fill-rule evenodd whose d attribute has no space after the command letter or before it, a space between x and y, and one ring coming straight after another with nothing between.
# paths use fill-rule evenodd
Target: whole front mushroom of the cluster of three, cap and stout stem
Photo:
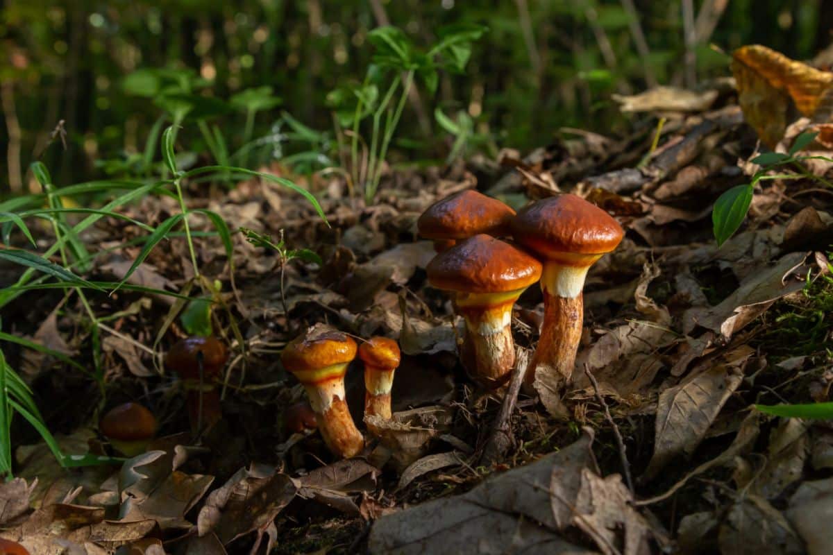
<instances>
[{"instance_id":1,"label":"whole front mushroom of the cluster of three, cap and stout stem","mask_svg":"<svg viewBox=\"0 0 833 555\"><path fill-rule=\"evenodd\" d=\"M487 387L504 383L515 364L512 305L541 277L541 262L481 234L436 255L426 270L431 285L452 291L456 311L466 320L466 370Z\"/></svg>"}]
</instances>

